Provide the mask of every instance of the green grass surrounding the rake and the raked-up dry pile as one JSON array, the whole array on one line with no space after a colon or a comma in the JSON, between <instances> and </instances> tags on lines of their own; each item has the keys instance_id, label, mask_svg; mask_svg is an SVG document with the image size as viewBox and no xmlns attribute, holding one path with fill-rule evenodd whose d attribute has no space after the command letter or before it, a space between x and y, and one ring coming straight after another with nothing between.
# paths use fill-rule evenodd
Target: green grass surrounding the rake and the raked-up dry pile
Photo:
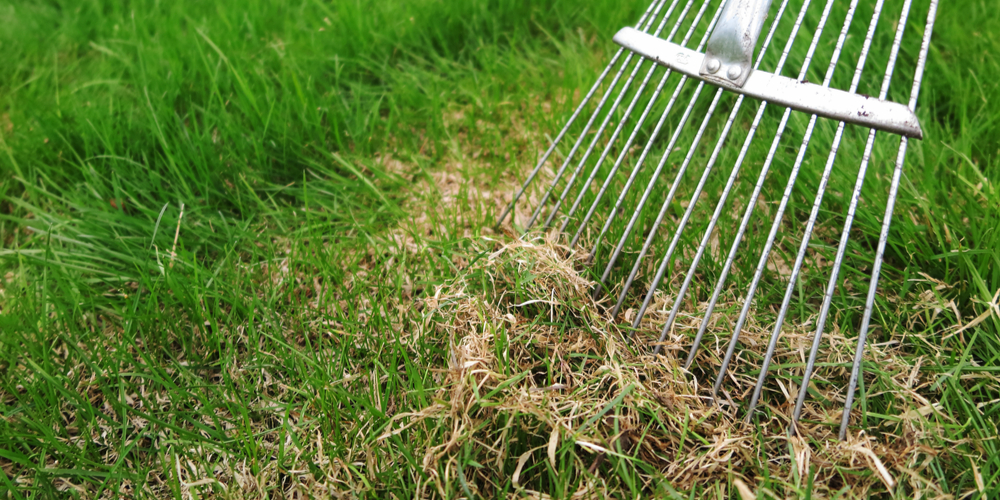
<instances>
[{"instance_id":1,"label":"green grass surrounding the rake and the raked-up dry pile","mask_svg":"<svg viewBox=\"0 0 1000 500\"><path fill-rule=\"evenodd\" d=\"M612 54L611 35L634 23L641 4L0 2L0 491L9 498L514 492L519 457L548 439L530 416L510 412L488 424L515 429L518 443L466 439L438 450L444 458L430 466L428 449L446 444L452 429L414 426L378 438L401 415L447 394L442 373L462 333L436 327L448 318L425 307L439 287L478 280L476 293L509 292L517 303L517 293L534 290L538 275L529 267L508 263L513 284L492 287L476 267L491 250L482 238L502 237L489 229L499 207L491 196L510 191L533 166L576 92ZM926 12L917 4L914 27ZM790 2L785 33L799 5ZM899 339L897 361L905 364L869 357L870 396L857 403L868 414L855 431L871 429L881 442L911 439L894 426L916 409L907 406L914 400L881 391L916 370L917 392L940 402L908 428L927 447L919 456L933 483L928 495L978 495L970 463L986 488L1000 484L1000 311L989 315L1000 290L1000 40L993 36L1000 20L990 5L940 8L917 109L926 138L911 142L873 317L873 342ZM838 9L830 26L842 19ZM885 19L898 9L887 2ZM858 19L870 13L862 6ZM885 36L883 46L891 41ZM918 41L906 42L901 57L912 68ZM842 61L850 62L838 67L834 85L848 82L859 46L849 40ZM804 50L800 41L786 65L795 69L785 74L797 70ZM810 80L822 79L831 52L832 42L820 46ZM772 48L763 67L776 56ZM881 73L886 57L873 54L867 71ZM894 84L910 78L912 69L904 70ZM908 93L895 85L890 97ZM702 95L698 110L710 97ZM719 116L728 113L726 99ZM749 104L735 136L756 110ZM780 116L768 113L744 177L756 175ZM766 199L780 192L806 122L793 114ZM694 128L679 144L690 143ZM783 251L798 243L832 134L829 123L817 127L824 146L813 146L818 152L803 169ZM833 237L863 143L849 128L821 223ZM876 145L831 316L845 332L859 321L896 144L882 137ZM737 152L724 150L707 192L718 191ZM734 198L749 193L746 184ZM687 196L682 190L678 200ZM695 220L711 208L699 207ZM655 208L647 212L645 224ZM763 239L768 221L755 224L750 244ZM606 241L616 241L623 225L613 225ZM720 230L725 240L732 228ZM817 251L831 252L824 242L816 238ZM753 264L738 266L738 289ZM720 266L709 262L706 276ZM479 270L470 275L470 267ZM616 280L627 271L616 271ZM815 311L825 279L806 273L801 286L813 295L796 299L797 322ZM758 300L780 300L781 279L768 280L775 286L762 287ZM704 300L712 283L691 293ZM561 321L577 327L574 318L566 312ZM625 411L616 405L605 411ZM756 439L780 439L772 434ZM488 448L496 446L509 449L498 458ZM565 467L532 461L519 484L572 495L587 477L577 465L590 455L565 442L559 453ZM470 472L494 470L487 466L501 473ZM616 496L670 491L671 477L638 458L613 457L597 470ZM747 463L731 473L754 478L757 491L809 489L801 477L789 485ZM679 495L734 495L732 474ZM644 482L650 477L655 483ZM910 497L912 484L927 484L904 483L872 493Z\"/></svg>"}]
</instances>

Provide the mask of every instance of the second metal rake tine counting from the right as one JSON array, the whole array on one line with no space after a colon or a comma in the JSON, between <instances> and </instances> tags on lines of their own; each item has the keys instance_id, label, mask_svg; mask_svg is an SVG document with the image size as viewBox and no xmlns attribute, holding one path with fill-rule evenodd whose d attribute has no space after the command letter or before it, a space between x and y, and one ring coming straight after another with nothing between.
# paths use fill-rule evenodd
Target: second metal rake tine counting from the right
<instances>
[{"instance_id":1,"label":"second metal rake tine counting from the right","mask_svg":"<svg viewBox=\"0 0 1000 500\"><path fill-rule=\"evenodd\" d=\"M876 11L880 10L882 5L882 0L876 3ZM885 99L889 94L889 83L892 81L892 72L896 67L896 57L899 54L899 45L903 41L903 31L906 27L906 20L910 13L911 0L906 0L903 4L903 11L899 17L899 23L896 29L896 38L892 42L892 49L889 52L889 63L886 66L885 77L882 79L882 89L879 91L879 99ZM874 35L874 25L876 23L875 17L872 18L872 28L869 30L870 34L865 39L866 47L871 44L871 37ZM863 49L864 50L864 49ZM860 72L855 77L855 80L860 80ZM857 90L857 84L851 83L851 91ZM840 125L840 129L843 129L844 125ZM839 132L839 130L838 130ZM838 138L840 134L838 133ZM823 296L823 306L820 308L819 319L816 322L816 333L813 336L813 345L809 351L809 361L806 363L805 372L802 374L802 387L799 390L799 397L795 401L795 410L792 412L792 422L791 428L795 430L798 424L799 417L802 415L802 405L805 403L806 394L809 387L809 379L812 377L813 370L816 366L816 354L819 351L820 340L823 338L823 329L826 327L826 319L830 313L830 304L833 301L833 292L837 288L837 279L840 275L840 266L844 262L844 254L847 252L847 242L850 239L851 226L854 223L854 214L857 211L858 199L861 198L861 188L865 183L865 174L868 171L868 162L871 159L872 147L875 145L875 129L871 129L868 132L868 142L865 144L865 153L861 160L861 166L858 168L858 178L854 184L854 192L851 194L851 203L847 208L847 216L844 220L844 231L840 236L840 245L837 247L837 256L833 260L833 269L830 271L830 282L827 284L826 293ZM832 156L832 153L831 153ZM831 161L832 163L832 161ZM818 198L817 198L818 199ZM805 247L805 245L803 245ZM804 253L804 250L800 250ZM763 371L761 372L764 373ZM758 382L758 386L763 385ZM754 389L754 396L760 393L760 389ZM756 400L756 398L754 398ZM753 410L753 405L750 406L751 411Z\"/></svg>"}]
</instances>

